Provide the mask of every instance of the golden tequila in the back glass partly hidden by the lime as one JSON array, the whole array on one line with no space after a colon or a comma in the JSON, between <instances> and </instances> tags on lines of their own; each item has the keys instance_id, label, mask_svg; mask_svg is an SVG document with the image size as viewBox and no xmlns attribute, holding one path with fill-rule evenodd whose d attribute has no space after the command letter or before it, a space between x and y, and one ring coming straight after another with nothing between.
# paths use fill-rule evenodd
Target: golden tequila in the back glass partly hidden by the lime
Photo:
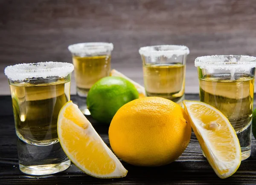
<instances>
[{"instance_id":1,"label":"golden tequila in the back glass partly hidden by the lime","mask_svg":"<svg viewBox=\"0 0 256 185\"><path fill-rule=\"evenodd\" d=\"M73 56L73 64L78 94L86 97L94 83L110 75L111 56Z\"/></svg>"}]
</instances>

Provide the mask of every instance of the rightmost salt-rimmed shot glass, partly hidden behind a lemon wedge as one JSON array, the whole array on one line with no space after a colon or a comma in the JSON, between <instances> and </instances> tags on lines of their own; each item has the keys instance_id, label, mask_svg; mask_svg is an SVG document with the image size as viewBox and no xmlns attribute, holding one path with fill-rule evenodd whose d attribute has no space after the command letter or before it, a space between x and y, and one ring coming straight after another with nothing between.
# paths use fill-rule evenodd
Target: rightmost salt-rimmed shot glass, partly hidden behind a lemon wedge
<instances>
[{"instance_id":1,"label":"rightmost salt-rimmed shot glass, partly hidden behind a lemon wedge","mask_svg":"<svg viewBox=\"0 0 256 185\"><path fill-rule=\"evenodd\" d=\"M195 59L200 100L220 110L238 136L242 160L250 157L256 57L214 55Z\"/></svg>"}]
</instances>

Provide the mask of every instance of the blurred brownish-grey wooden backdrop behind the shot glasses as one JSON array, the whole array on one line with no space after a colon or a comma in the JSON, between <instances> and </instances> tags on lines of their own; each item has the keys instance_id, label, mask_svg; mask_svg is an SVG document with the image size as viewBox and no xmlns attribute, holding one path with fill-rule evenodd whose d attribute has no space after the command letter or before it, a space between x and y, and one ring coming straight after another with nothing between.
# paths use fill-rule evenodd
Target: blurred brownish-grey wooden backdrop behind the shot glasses
<instances>
[{"instance_id":1,"label":"blurred brownish-grey wooden backdrop behind the shot glasses","mask_svg":"<svg viewBox=\"0 0 256 185\"><path fill-rule=\"evenodd\" d=\"M80 42L112 42L112 68L140 84L141 46L186 45L186 92L198 93L196 57L256 56L256 1L0 0L0 94L9 94L7 65L71 63L67 46Z\"/></svg>"}]
</instances>

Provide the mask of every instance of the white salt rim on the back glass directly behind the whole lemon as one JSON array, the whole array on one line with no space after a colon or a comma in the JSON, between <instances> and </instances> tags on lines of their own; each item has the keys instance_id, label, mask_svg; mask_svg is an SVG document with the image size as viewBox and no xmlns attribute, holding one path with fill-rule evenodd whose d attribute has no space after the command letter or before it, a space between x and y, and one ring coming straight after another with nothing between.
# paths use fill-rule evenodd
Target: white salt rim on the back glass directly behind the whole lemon
<instances>
[{"instance_id":1,"label":"white salt rim on the back glass directly behind the whole lemon","mask_svg":"<svg viewBox=\"0 0 256 185\"><path fill-rule=\"evenodd\" d=\"M159 48L160 50L156 50ZM189 54L189 48L181 45L157 45L157 46L145 46L139 49L140 55L145 57L167 57L171 58L173 55L185 55Z\"/></svg>"}]
</instances>

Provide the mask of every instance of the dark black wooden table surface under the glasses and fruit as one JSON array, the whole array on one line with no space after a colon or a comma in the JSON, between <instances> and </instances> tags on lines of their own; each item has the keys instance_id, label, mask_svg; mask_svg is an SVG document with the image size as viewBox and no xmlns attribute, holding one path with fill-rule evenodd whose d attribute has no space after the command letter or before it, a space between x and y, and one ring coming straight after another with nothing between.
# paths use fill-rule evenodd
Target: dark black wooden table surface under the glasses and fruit
<instances>
[{"instance_id":1,"label":"dark black wooden table surface under the glasses and fruit","mask_svg":"<svg viewBox=\"0 0 256 185\"><path fill-rule=\"evenodd\" d=\"M74 100L74 96L71 97ZM186 94L187 100L198 100L198 94ZM75 101L75 100L74 100ZM256 140L252 140L251 157L241 162L238 171L227 179L220 179L207 160L203 157L201 147L192 133L190 143L183 154L169 165L155 168L135 167L123 161L128 170L121 179L97 179L81 172L75 165L66 171L47 176L30 176L19 170L17 156L17 137L12 113L10 96L0 96L0 185L81 185L81 184L256 184ZM108 127L97 124L88 117L94 128L110 147Z\"/></svg>"}]
</instances>

